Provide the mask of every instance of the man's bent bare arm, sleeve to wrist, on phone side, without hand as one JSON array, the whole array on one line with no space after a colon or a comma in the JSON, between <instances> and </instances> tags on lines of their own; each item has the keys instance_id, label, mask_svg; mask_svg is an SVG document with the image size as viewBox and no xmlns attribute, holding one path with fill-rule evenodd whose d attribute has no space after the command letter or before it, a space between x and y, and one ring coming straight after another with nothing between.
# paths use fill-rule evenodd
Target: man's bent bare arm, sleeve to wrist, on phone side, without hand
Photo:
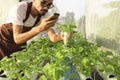
<instances>
[{"instance_id":1,"label":"man's bent bare arm, sleeve to wrist, on phone side, without hand","mask_svg":"<svg viewBox=\"0 0 120 80\"><path fill-rule=\"evenodd\" d=\"M38 27L34 27L30 31L24 33L22 33L22 30L23 26L13 25L13 36L16 44L22 44L24 42L27 42L29 39L42 31L42 29L38 29Z\"/></svg>"}]
</instances>

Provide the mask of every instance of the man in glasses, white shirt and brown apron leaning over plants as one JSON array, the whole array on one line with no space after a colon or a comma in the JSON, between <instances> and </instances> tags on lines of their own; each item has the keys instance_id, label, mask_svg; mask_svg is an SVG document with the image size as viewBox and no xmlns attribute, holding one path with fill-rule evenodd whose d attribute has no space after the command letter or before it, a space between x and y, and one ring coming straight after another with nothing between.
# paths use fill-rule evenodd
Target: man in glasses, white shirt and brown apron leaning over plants
<instances>
[{"instance_id":1,"label":"man in glasses, white shirt and brown apron leaning over plants","mask_svg":"<svg viewBox=\"0 0 120 80\"><path fill-rule=\"evenodd\" d=\"M49 16L41 20L52 7L53 0L32 0L32 3L20 2L14 6L7 23L0 27L0 59L22 50L21 46L43 31L47 31L52 42L61 41L63 34L56 35L51 28L58 18L50 20L52 16Z\"/></svg>"}]
</instances>

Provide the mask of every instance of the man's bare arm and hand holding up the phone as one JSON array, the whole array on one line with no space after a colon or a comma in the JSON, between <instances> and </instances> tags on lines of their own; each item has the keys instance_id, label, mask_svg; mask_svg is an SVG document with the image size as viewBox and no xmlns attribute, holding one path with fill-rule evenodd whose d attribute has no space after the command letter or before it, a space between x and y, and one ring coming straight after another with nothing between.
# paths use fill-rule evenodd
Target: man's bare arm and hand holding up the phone
<instances>
[{"instance_id":1,"label":"man's bare arm and hand holding up the phone","mask_svg":"<svg viewBox=\"0 0 120 80\"><path fill-rule=\"evenodd\" d=\"M42 32L42 31L46 31L50 27L53 27L55 25L57 19L49 21L49 18L50 17L42 20L40 25L33 27L30 31L24 32L24 33L22 33L22 31L23 31L22 25L13 24L13 36L14 36L15 43L22 44L24 42L27 42L29 39L33 38L38 33Z\"/></svg>"}]
</instances>

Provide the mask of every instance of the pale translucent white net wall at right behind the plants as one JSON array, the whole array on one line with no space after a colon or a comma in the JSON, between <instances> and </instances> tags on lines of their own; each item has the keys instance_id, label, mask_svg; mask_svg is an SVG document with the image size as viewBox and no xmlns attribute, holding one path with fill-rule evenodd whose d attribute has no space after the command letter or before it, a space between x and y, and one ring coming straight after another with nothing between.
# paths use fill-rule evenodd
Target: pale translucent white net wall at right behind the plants
<instances>
[{"instance_id":1,"label":"pale translucent white net wall at right behind the plants","mask_svg":"<svg viewBox=\"0 0 120 80\"><path fill-rule=\"evenodd\" d=\"M120 0L87 0L86 37L120 52Z\"/></svg>"}]
</instances>

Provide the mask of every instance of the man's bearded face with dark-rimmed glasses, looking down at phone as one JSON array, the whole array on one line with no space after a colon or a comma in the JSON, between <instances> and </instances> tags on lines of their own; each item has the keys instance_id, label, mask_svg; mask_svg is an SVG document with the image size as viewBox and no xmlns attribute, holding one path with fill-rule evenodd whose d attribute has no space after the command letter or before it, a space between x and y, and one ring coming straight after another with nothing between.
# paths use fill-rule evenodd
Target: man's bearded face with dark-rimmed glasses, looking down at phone
<instances>
[{"instance_id":1,"label":"man's bearded face with dark-rimmed glasses, looking down at phone","mask_svg":"<svg viewBox=\"0 0 120 80\"><path fill-rule=\"evenodd\" d=\"M35 0L35 7L38 13L45 15L53 7L53 0Z\"/></svg>"}]
</instances>

